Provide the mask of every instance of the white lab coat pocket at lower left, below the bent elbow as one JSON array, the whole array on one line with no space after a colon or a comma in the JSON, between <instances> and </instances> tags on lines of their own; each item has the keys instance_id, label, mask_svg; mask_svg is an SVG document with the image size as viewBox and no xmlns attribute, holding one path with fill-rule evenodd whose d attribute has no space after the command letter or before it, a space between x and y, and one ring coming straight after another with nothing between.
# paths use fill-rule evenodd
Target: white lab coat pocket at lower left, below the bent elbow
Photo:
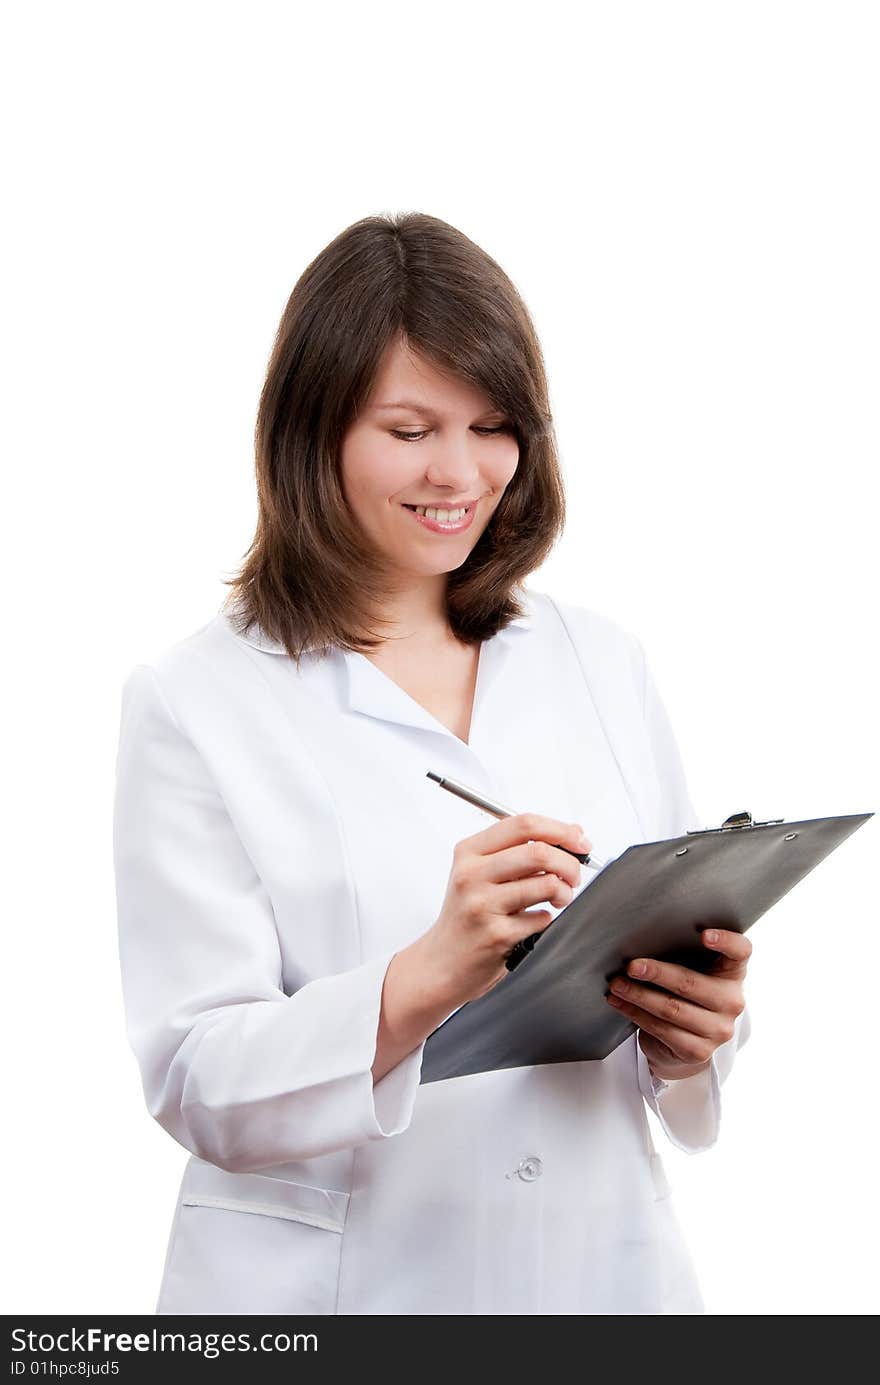
<instances>
[{"instance_id":1,"label":"white lab coat pocket at lower left, below the bent elbow","mask_svg":"<svg viewBox=\"0 0 880 1385\"><path fill-rule=\"evenodd\" d=\"M348 1192L193 1161L157 1314L337 1312Z\"/></svg>"}]
</instances>

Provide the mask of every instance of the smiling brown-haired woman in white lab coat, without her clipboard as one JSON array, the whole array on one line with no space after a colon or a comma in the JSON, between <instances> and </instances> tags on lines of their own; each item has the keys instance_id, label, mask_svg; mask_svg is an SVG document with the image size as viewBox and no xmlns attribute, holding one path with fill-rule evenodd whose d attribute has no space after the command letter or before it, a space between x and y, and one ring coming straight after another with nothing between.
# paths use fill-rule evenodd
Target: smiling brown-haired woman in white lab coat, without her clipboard
<instances>
[{"instance_id":1,"label":"smiling brown-haired woman in white lab coat, without her clipboard","mask_svg":"<svg viewBox=\"0 0 880 1385\"><path fill-rule=\"evenodd\" d=\"M601 1062L420 1084L586 885L571 852L698 825L640 643L522 586L564 497L507 276L430 216L338 235L281 319L256 481L226 609L123 690L127 1032L191 1155L157 1312L704 1312L646 1107L715 1141L747 939L621 978L637 1029Z\"/></svg>"}]
</instances>

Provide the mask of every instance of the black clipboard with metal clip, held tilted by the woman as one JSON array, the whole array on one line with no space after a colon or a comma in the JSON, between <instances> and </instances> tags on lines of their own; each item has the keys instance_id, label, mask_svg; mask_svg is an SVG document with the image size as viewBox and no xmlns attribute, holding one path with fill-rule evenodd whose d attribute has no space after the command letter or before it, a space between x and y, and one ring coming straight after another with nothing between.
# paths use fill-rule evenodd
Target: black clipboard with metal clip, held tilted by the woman
<instances>
[{"instance_id":1,"label":"black clipboard with metal clip, held tilted by the woman","mask_svg":"<svg viewBox=\"0 0 880 1385\"><path fill-rule=\"evenodd\" d=\"M640 842L608 861L492 990L428 1035L421 1083L606 1058L635 1030L606 1001L633 957L710 971L704 928L746 932L873 813L753 823Z\"/></svg>"}]
</instances>

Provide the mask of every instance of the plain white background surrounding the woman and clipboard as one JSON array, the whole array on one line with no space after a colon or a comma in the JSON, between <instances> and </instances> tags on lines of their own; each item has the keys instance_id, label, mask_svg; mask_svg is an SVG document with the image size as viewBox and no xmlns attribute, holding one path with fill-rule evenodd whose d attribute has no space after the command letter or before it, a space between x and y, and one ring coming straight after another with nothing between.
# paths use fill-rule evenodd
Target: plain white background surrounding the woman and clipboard
<instances>
[{"instance_id":1,"label":"plain white background surrounding the woman and clipboard","mask_svg":"<svg viewBox=\"0 0 880 1385\"><path fill-rule=\"evenodd\" d=\"M186 1152L125 1037L119 690L219 609L345 226L430 212L522 292L570 503L531 584L643 640L704 820L880 809L879 19L36 4L3 47L3 1310L151 1313ZM876 856L755 925L721 1140L658 1145L712 1314L877 1312Z\"/></svg>"}]
</instances>

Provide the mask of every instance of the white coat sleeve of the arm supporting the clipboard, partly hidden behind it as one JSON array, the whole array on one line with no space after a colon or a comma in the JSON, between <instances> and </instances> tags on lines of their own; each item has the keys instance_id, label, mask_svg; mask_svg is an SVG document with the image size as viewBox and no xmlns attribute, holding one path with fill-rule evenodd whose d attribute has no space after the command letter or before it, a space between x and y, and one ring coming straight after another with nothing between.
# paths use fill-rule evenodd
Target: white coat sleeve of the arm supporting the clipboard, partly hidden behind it
<instances>
[{"instance_id":1,"label":"white coat sleeve of the arm supporting the clipboard, partly hidden behind it","mask_svg":"<svg viewBox=\"0 0 880 1385\"><path fill-rule=\"evenodd\" d=\"M661 841L682 837L689 828L705 824L697 819L690 801L672 724L647 666L644 650L637 640L636 647L643 679L644 723L661 792L654 839ZM667 1137L686 1154L697 1154L716 1143L721 1129L721 1087L729 1078L736 1053L750 1032L751 1019L746 1008L736 1018L732 1037L712 1054L710 1066L693 1078L679 1078L675 1082L662 1082L653 1076L647 1058L636 1042L642 1096L658 1118Z\"/></svg>"}]
</instances>

